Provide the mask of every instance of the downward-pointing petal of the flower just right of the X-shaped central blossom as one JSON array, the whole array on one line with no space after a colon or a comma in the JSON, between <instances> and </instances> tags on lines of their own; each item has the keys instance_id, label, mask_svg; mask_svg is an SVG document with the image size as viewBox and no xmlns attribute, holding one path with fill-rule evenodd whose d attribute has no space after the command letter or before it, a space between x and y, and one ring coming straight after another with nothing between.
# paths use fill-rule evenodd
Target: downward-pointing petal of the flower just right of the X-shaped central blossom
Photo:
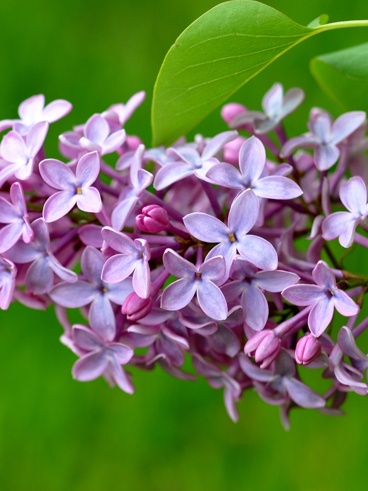
<instances>
[{"instance_id":1,"label":"downward-pointing petal of the flower just right of the X-shaped central blossom","mask_svg":"<svg viewBox=\"0 0 368 491\"><path fill-rule=\"evenodd\" d=\"M268 303L261 290L252 283L244 282L240 305L248 326L255 331L262 330L268 318Z\"/></svg>"}]
</instances>

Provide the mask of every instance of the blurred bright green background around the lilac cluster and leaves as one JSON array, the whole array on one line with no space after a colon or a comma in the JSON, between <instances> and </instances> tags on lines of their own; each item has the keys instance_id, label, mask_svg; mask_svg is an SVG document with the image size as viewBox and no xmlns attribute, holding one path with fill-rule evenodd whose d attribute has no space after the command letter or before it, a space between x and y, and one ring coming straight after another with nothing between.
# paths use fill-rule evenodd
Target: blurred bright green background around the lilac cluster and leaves
<instances>
[{"instance_id":1,"label":"blurred bright green background around the lilac cluster and leaves","mask_svg":"<svg viewBox=\"0 0 368 491\"><path fill-rule=\"evenodd\" d=\"M19 103L40 92L47 102L71 101L75 109L52 125L47 138L48 156L55 156L59 133L144 89L147 101L127 130L149 144L152 90L163 57L182 30L216 3L1 0L0 118L16 117ZM304 25L322 13L331 22L368 18L367 0L268 4ZM312 105L338 114L310 75L310 58L366 41L367 28L319 34L232 99L259 109L273 82L300 86L306 101L286 126L290 135L304 132ZM197 131L210 136L223 129L215 111ZM368 273L367 259L357 247L345 267ZM234 424L221 392L203 379L182 382L158 368L133 370L133 396L103 380L73 381L75 356L58 341L53 309L12 304L0 320L2 491L367 489L367 398L349 394L347 416L340 418L294 410L287 433L278 409L248 391ZM367 352L368 336L362 338ZM324 390L328 382L314 375L307 369L302 374Z\"/></svg>"}]
</instances>

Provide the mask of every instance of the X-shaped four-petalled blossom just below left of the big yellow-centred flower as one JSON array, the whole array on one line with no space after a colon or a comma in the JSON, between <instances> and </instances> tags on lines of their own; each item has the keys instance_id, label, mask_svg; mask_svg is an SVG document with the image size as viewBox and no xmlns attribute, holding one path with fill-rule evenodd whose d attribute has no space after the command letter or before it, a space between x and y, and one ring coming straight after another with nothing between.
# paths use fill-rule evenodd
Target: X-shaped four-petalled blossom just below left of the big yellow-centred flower
<instances>
[{"instance_id":1,"label":"X-shaped four-petalled blossom just below left of the big yellow-centred flower","mask_svg":"<svg viewBox=\"0 0 368 491\"><path fill-rule=\"evenodd\" d=\"M180 278L165 288L161 296L161 308L180 310L197 294L201 309L213 319L226 319L228 306L221 290L213 281L225 275L225 260L222 256L211 257L201 266L190 263L172 249L163 254L166 270Z\"/></svg>"}]
</instances>

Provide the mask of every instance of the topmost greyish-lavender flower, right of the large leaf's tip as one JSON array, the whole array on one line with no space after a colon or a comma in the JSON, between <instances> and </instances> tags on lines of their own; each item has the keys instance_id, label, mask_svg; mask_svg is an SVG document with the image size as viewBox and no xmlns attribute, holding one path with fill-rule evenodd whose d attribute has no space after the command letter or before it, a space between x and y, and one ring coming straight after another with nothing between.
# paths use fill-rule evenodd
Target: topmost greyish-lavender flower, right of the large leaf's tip
<instances>
[{"instance_id":1,"label":"topmost greyish-lavender flower, right of the large leaf's tip","mask_svg":"<svg viewBox=\"0 0 368 491\"><path fill-rule=\"evenodd\" d=\"M304 101L305 94L302 89L291 88L284 95L284 87L281 83L274 83L264 94L262 109L259 111L246 111L240 113L231 121L231 128L238 128L252 123L255 133L264 135L274 130L278 124L294 111Z\"/></svg>"}]
</instances>

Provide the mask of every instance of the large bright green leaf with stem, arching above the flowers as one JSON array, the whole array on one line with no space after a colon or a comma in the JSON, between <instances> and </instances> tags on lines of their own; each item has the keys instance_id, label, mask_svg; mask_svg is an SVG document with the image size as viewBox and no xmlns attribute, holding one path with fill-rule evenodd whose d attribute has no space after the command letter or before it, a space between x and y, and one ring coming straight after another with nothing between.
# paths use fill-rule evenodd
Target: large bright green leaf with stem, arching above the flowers
<instances>
[{"instance_id":1,"label":"large bright green leaf with stem, arching above the flowers","mask_svg":"<svg viewBox=\"0 0 368 491\"><path fill-rule=\"evenodd\" d=\"M253 0L221 3L187 27L167 53L152 101L153 144L185 135L245 82L304 39L368 21L300 26Z\"/></svg>"}]
</instances>

